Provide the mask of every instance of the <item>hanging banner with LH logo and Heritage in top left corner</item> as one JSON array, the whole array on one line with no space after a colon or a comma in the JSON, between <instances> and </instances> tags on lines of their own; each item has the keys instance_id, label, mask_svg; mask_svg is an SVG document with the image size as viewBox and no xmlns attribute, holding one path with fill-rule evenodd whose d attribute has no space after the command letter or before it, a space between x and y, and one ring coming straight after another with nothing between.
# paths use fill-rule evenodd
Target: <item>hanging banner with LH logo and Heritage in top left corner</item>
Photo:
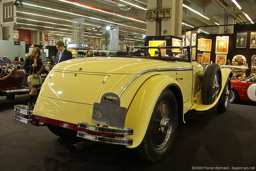
<instances>
[{"instance_id":1,"label":"hanging banner with LH logo and Heritage in top left corner","mask_svg":"<svg viewBox=\"0 0 256 171\"><path fill-rule=\"evenodd\" d=\"M16 6L13 0L2 0L0 4L1 27L14 26L16 23Z\"/></svg>"}]
</instances>

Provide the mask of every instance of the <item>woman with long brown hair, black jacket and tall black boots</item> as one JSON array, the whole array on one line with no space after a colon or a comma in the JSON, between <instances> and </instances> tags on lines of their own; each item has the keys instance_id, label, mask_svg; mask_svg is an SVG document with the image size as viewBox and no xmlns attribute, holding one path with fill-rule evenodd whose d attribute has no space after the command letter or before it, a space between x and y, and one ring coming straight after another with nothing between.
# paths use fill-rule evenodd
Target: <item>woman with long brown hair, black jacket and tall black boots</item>
<instances>
[{"instance_id":1,"label":"woman with long brown hair, black jacket and tall black boots","mask_svg":"<svg viewBox=\"0 0 256 171\"><path fill-rule=\"evenodd\" d=\"M30 111L34 106L32 105L33 103L36 103L37 100L37 88L41 86L39 85L28 85L28 77L33 76L37 74L38 78L40 73L44 70L44 65L42 63L41 59L41 51L38 47L35 47L32 52L27 56L23 68L25 69L25 75L23 79L23 86L25 87L31 87L31 91L29 93L29 98L28 98L28 106L27 109ZM41 77L39 78L41 79ZM32 109L33 110L33 109Z\"/></svg>"}]
</instances>

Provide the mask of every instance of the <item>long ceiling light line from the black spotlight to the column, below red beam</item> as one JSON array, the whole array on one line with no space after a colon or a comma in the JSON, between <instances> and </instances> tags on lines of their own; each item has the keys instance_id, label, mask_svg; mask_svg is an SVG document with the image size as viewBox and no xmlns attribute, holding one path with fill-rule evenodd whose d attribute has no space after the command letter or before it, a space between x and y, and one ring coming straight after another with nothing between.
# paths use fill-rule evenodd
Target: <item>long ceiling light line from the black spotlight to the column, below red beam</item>
<instances>
[{"instance_id":1,"label":"long ceiling light line from the black spotlight to the column, below red beam","mask_svg":"<svg viewBox=\"0 0 256 171\"><path fill-rule=\"evenodd\" d=\"M146 29L136 28L136 27L134 27L134 26L127 26L127 25L123 25L123 24L120 24L120 23L116 23L116 22L111 22L111 21L107 21L107 20L102 20L102 19L99 19L99 18L88 17L88 16L84 16L84 15L80 15L80 14L70 13L70 12L67 12L67 11L62 11L62 10L57 10L57 9L42 7L42 6L33 5L33 4L28 4L28 3L23 3L23 4L29 5L29 6L38 7L38 8L44 8L44 9L49 9L49 10L53 10L53 11L58 11L58 12L61 12L61 13L76 15L76 16L80 16L80 17L90 18L90 19L93 19L93 20L104 21L104 22L107 22L107 23L115 24L115 25L120 25L120 26L125 26L125 27L131 27L131 28L133 28L133 29L139 29L139 30L144 30L144 31L146 31Z\"/></svg>"}]
</instances>

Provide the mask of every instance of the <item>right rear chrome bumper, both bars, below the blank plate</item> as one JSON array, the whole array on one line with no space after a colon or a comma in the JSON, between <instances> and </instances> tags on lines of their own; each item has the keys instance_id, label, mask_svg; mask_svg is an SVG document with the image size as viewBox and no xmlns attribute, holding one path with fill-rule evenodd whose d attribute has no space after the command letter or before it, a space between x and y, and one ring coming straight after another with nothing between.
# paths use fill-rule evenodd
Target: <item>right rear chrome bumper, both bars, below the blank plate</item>
<instances>
[{"instance_id":1,"label":"right rear chrome bumper, both bars, below the blank plate","mask_svg":"<svg viewBox=\"0 0 256 171\"><path fill-rule=\"evenodd\" d=\"M79 122L78 128L98 132L99 134L109 134L110 137L113 137L113 138L110 138L110 137L103 137L98 135L91 135L83 131L78 131L77 137L80 137L80 138L108 143L108 144L118 144L118 145L132 145L133 143L133 139L131 138L113 136L113 135L133 135L133 129L131 128L113 129L113 128L107 128L107 127L92 126L92 125L88 125L85 122Z\"/></svg>"}]
</instances>

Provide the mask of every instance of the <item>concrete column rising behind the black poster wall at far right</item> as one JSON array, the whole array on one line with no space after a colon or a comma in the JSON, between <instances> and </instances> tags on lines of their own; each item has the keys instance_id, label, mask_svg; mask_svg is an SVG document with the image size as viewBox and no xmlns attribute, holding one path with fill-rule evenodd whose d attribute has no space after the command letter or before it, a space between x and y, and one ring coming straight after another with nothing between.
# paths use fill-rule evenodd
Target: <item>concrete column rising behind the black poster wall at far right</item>
<instances>
[{"instance_id":1,"label":"concrete column rising behind the black poster wall at far right","mask_svg":"<svg viewBox=\"0 0 256 171\"><path fill-rule=\"evenodd\" d=\"M236 20L228 14L220 14L220 25L228 25L228 24L235 24ZM234 26L220 26L219 27L219 34L233 34L234 32Z\"/></svg>"}]
</instances>

